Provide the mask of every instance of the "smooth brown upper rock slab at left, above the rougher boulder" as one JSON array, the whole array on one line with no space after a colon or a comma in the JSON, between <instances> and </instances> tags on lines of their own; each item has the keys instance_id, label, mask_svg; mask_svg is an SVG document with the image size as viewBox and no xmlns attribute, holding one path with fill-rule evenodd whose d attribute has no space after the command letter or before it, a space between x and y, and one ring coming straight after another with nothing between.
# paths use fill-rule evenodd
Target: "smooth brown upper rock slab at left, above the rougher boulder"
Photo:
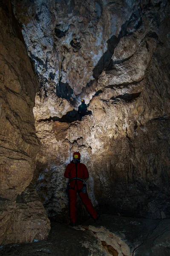
<instances>
[{"instance_id":1,"label":"smooth brown upper rock slab at left, above the rougher boulder","mask_svg":"<svg viewBox=\"0 0 170 256\"><path fill-rule=\"evenodd\" d=\"M40 148L32 112L39 84L12 12L0 8L0 195L15 200L32 180Z\"/></svg>"}]
</instances>

